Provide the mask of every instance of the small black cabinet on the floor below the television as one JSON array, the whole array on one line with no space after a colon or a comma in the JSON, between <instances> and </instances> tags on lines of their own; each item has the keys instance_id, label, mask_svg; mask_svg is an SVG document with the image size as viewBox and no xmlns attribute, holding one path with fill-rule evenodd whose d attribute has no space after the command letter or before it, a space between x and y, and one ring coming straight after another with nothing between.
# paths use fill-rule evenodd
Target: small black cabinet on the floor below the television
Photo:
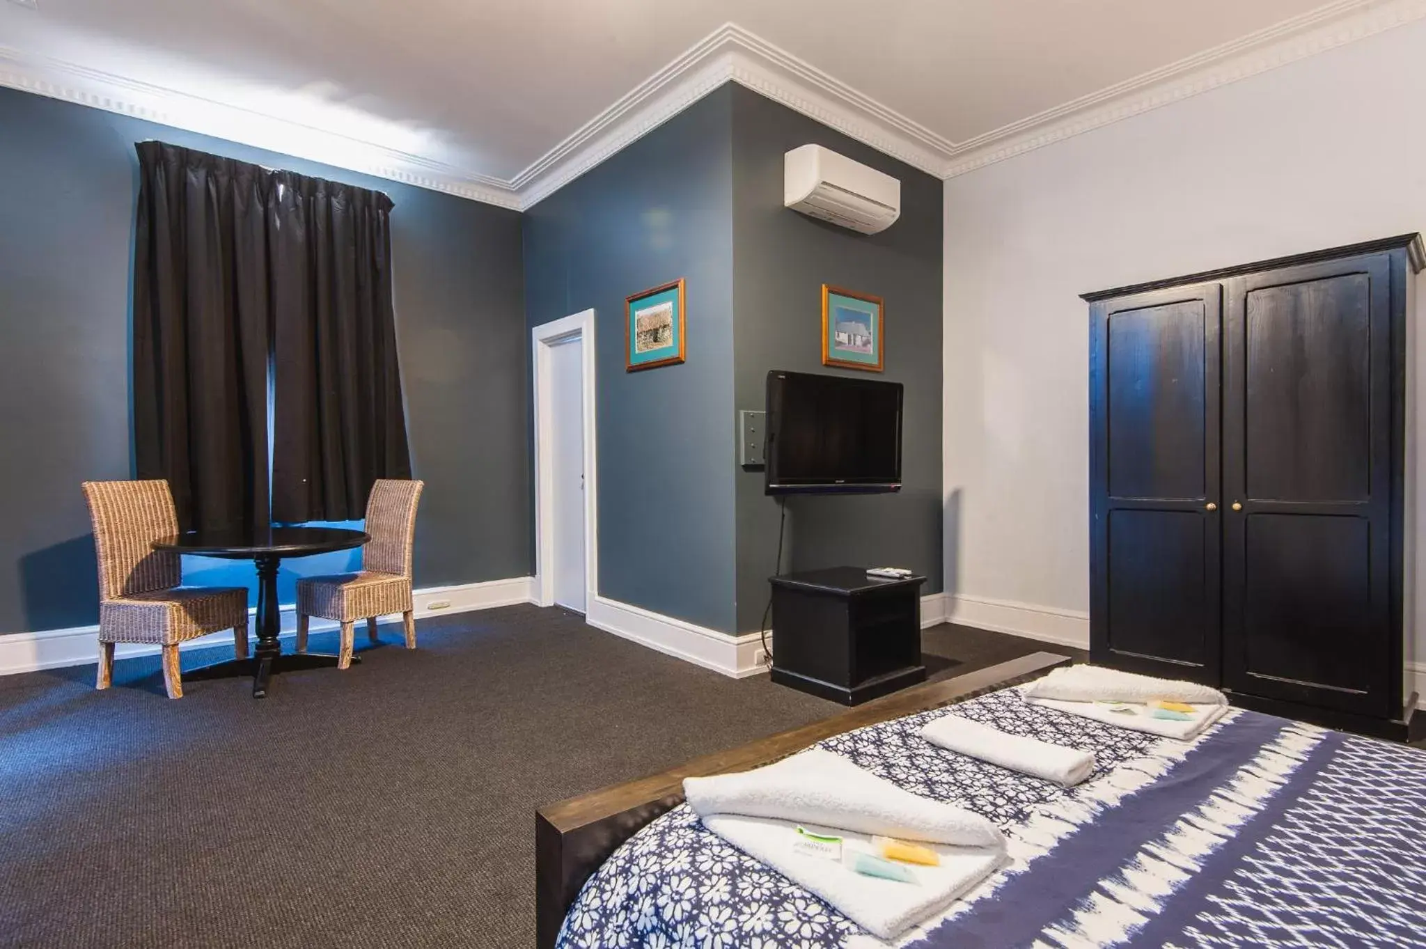
<instances>
[{"instance_id":1,"label":"small black cabinet on the floor below the television","mask_svg":"<svg viewBox=\"0 0 1426 949\"><path fill-rule=\"evenodd\" d=\"M921 584L831 567L769 577L773 681L844 705L925 681Z\"/></svg>"}]
</instances>

